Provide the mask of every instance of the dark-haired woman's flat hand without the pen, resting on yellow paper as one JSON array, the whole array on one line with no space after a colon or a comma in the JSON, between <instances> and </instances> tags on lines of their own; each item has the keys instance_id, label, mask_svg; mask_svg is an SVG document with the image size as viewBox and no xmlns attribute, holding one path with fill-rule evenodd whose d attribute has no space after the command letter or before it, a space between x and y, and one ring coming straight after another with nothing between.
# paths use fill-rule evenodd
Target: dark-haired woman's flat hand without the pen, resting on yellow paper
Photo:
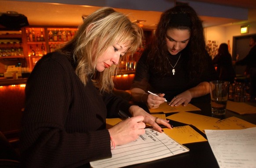
<instances>
[{"instance_id":1,"label":"dark-haired woman's flat hand without the pen, resting on yellow paper","mask_svg":"<svg viewBox=\"0 0 256 168\"><path fill-rule=\"evenodd\" d=\"M169 103L170 106L179 106L183 104L183 106L187 106L187 104L191 101L192 95L189 90L184 91L183 93L176 95L171 102Z\"/></svg>"}]
</instances>

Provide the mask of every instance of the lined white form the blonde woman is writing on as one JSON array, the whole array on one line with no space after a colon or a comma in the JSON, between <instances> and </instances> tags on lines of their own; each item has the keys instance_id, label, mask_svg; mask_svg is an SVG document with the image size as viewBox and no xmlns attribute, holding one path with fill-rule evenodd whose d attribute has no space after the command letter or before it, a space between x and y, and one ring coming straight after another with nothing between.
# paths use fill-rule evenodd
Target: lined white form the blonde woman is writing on
<instances>
[{"instance_id":1,"label":"lined white form the blonde woman is writing on","mask_svg":"<svg viewBox=\"0 0 256 168\"><path fill-rule=\"evenodd\" d=\"M155 161L161 158L188 152L189 149L179 144L165 133L146 128L146 133L133 142L116 146L111 150L112 157L90 162L93 168L120 168L132 164Z\"/></svg>"}]
</instances>

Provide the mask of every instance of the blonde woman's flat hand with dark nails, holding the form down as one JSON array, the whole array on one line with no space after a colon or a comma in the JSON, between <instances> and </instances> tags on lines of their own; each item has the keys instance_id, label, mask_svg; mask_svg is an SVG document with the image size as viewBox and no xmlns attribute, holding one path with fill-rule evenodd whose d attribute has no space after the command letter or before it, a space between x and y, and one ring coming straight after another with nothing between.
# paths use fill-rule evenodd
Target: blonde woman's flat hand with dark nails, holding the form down
<instances>
[{"instance_id":1,"label":"blonde woman's flat hand with dark nails, holding the form down","mask_svg":"<svg viewBox=\"0 0 256 168\"><path fill-rule=\"evenodd\" d=\"M144 117L143 122L146 124L150 124L152 127L154 127L159 132L162 132L162 128L158 124L163 124L167 128L170 128L170 129L172 128L171 125L169 124L169 121L163 120L161 118L157 118L157 120L156 120L156 117L147 113L145 110L143 110L139 106L131 106L129 111L132 114L132 116L134 116L134 117L143 116Z\"/></svg>"}]
</instances>

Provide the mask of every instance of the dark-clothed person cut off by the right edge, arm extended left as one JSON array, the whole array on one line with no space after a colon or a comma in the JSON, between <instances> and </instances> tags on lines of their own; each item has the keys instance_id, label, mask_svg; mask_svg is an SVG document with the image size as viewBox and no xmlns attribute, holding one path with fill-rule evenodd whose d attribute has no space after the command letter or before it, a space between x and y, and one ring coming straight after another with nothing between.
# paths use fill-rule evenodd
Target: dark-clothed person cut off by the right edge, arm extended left
<instances>
[{"instance_id":1,"label":"dark-clothed person cut off by the right edge, arm extended left","mask_svg":"<svg viewBox=\"0 0 256 168\"><path fill-rule=\"evenodd\" d=\"M250 38L249 45L252 48L250 49L248 55L239 61L234 61L233 63L236 66L246 65L245 75L250 79L251 101L256 102L256 35Z\"/></svg>"}]
</instances>

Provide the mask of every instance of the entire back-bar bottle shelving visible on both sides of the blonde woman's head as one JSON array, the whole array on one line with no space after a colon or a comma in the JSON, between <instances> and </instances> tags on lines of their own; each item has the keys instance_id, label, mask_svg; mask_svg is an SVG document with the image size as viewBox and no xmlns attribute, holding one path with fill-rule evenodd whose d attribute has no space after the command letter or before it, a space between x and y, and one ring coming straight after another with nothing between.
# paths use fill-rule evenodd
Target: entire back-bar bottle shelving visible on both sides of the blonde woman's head
<instances>
[{"instance_id":1,"label":"entire back-bar bottle shelving visible on both sides of the blonde woman's head","mask_svg":"<svg viewBox=\"0 0 256 168\"><path fill-rule=\"evenodd\" d=\"M65 26L27 26L15 33L0 31L0 74L9 65L22 66L24 71L32 71L43 55L55 51L60 44L71 40L76 32L77 27ZM132 70L134 73L140 53L149 44L153 32L152 29L144 30L143 46L133 56L122 60L120 67L123 71Z\"/></svg>"}]
</instances>

